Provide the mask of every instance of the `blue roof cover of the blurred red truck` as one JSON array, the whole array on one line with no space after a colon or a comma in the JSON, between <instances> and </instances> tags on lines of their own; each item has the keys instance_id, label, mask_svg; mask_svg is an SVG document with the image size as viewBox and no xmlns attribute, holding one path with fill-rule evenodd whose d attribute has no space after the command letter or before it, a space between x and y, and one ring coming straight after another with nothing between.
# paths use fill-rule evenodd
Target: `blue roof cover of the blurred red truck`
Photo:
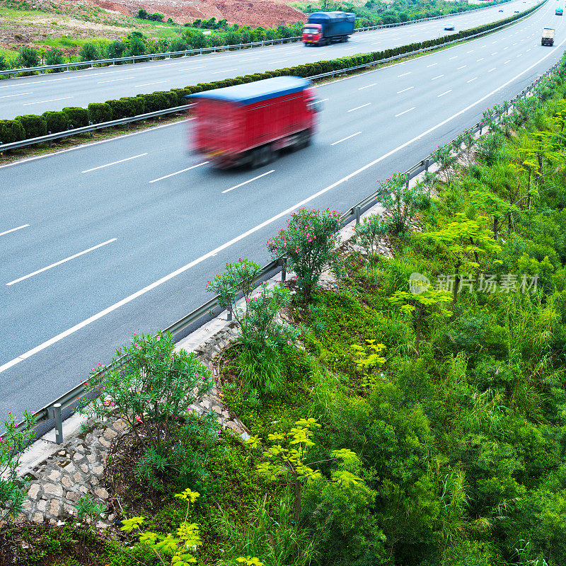
<instances>
[{"instance_id":1,"label":"blue roof cover of the blurred red truck","mask_svg":"<svg viewBox=\"0 0 566 566\"><path fill-rule=\"evenodd\" d=\"M297 93L308 86L311 86L310 79L303 79L300 76L274 76L272 79L263 79L253 83L214 88L212 91L190 94L185 98L213 98L248 105L260 102L260 100Z\"/></svg>"}]
</instances>

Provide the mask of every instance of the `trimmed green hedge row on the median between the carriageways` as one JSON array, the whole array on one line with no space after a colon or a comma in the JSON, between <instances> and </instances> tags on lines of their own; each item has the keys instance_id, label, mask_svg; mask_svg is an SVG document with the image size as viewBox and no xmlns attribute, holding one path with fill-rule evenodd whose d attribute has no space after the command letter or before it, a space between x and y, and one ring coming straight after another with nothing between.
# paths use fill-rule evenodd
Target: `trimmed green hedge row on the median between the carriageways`
<instances>
[{"instance_id":1,"label":"trimmed green hedge row on the median between the carriageways","mask_svg":"<svg viewBox=\"0 0 566 566\"><path fill-rule=\"evenodd\" d=\"M541 2L541 4L543 3ZM480 25L478 28L462 30L453 35L402 45L384 51L350 55L349 57L340 57L340 59L331 59L330 61L306 63L297 65L296 67L277 69L276 71L237 76L235 79L224 79L223 81L214 81L212 83L199 83L195 86L187 86L185 88L172 88L171 91L158 91L151 94L125 96L118 100L107 100L105 103L91 103L88 105L88 108L69 107L63 108L60 112L44 112L40 116L25 115L18 116L14 118L14 120L0 120L0 144L10 144L13 141L40 137L48 132L52 134L64 132L70 127L88 126L89 122L100 124L101 122L109 122L110 120L120 120L121 118L137 116L145 112L156 112L158 110L174 108L175 106L180 106L185 103L185 96L190 96L191 94L200 93L202 91L210 91L213 88L222 88L224 86L260 81L261 79L270 79L272 76L313 76L381 61L389 57L395 57L395 55L402 55L426 47L435 47L447 41L463 39L470 35L475 35L476 33L492 30L499 25L512 23L526 13L531 13L533 10L536 10L541 4L529 8L529 10L524 13L515 14L514 16L497 22Z\"/></svg>"}]
</instances>

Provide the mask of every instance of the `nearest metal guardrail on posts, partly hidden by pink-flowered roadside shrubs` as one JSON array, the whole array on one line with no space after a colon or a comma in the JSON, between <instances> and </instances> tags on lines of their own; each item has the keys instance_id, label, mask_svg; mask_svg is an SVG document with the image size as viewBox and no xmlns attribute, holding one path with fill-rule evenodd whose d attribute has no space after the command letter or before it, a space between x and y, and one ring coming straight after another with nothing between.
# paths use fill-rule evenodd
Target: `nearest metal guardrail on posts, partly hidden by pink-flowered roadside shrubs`
<instances>
[{"instance_id":1,"label":"nearest metal guardrail on posts, partly hidden by pink-flowered roadside shrubs","mask_svg":"<svg viewBox=\"0 0 566 566\"><path fill-rule=\"evenodd\" d=\"M560 62L554 64L553 67L550 67L550 69L548 69L548 71L545 71L545 73L542 74L540 77L538 77L538 79L531 82L529 86L526 86L526 88L524 88L518 95L516 95L514 98L512 98L512 100L509 101L510 104L513 105L520 98L524 98L524 96L527 96L533 90L533 88L536 85L538 85L538 83L540 83L543 79L545 79L547 76L552 74L553 71L559 66L559 64ZM473 134L480 132L481 135L483 131L483 127L484 127L483 122L476 122L475 125L473 125L473 127L471 127L470 129L473 132ZM450 141L449 143L452 143L452 141ZM426 158L419 161L418 163L415 163L415 165L413 165L412 167L408 168L408 170L405 171L404 173L405 175L407 175L407 183L409 183L410 180L412 178L415 178L415 176L417 176L419 173L422 173L422 171L428 171L429 167L434 163L435 163L434 157L432 155L429 155ZM371 195L368 195L363 200L358 202L357 204L354 204L353 207L348 209L340 217L341 224L342 225L346 224L348 221L352 219L352 216L355 216L356 224L359 224L359 219L362 212L364 212L364 210L376 204L376 200L378 199L378 197L379 197L379 191L375 191L372 192ZM260 272L258 272L258 276L255 278L254 283L258 283L262 281L263 279L265 279L265 276L267 274L269 274L270 272L272 272L273 270L279 267L282 268L282 281L285 281L287 276L287 258L278 258L277 260L273 260L272 262L262 267ZM214 296L212 299L207 301L207 303L204 303L201 306L195 308L195 310L189 313L187 316L181 318L177 322L168 326L168 328L165 328L163 332L171 332L171 334L175 336L176 334L189 328L191 325L199 322L204 316L209 314L215 308L218 308L218 306L219 306L218 296ZM231 320L231 316L229 316L229 320ZM118 369L118 367L120 366L119 362L120 361L118 360L117 366L108 366L103 370L103 372L105 373L114 369ZM50 419L54 420L55 429L56 429L55 441L57 442L57 444L62 444L63 442L61 412L64 408L67 408L69 407L69 405L73 405L74 403L77 403L78 401L81 400L81 398L83 398L83 396L85 395L85 387L84 387L85 383L86 381L83 381L83 383L79 383L78 386L72 388L70 391L67 391L67 393L61 395L61 397L59 397L57 400L52 401L52 403L49 403L49 405L45 405L44 408L34 413L36 419L36 425L40 424L40 422L45 422Z\"/></svg>"}]
</instances>

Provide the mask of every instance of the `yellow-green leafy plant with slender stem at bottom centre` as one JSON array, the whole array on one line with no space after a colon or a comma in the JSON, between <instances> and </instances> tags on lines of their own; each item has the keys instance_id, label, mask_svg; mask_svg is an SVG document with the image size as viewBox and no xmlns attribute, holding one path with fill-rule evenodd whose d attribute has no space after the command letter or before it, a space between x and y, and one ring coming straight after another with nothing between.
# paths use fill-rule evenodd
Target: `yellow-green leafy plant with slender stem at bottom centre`
<instances>
[{"instance_id":1,"label":"yellow-green leafy plant with slender stem at bottom centre","mask_svg":"<svg viewBox=\"0 0 566 566\"><path fill-rule=\"evenodd\" d=\"M330 458L316 462L306 463L308 449L314 446L312 437L314 429L320 428L316 419L308 418L296 421L295 426L287 433L276 432L268 434L267 440L272 444L265 449L263 456L265 461L257 466L258 472L267 480L281 480L294 492L294 520L298 523L301 517L301 495L302 487L306 483L331 482L339 487L349 489L352 487L363 487L362 478L345 468L352 468L359 464L357 454L349 449L333 450ZM254 449L260 444L259 437L251 437L248 443ZM333 470L331 478L325 478L320 470L313 468L319 463L328 461L339 461L340 468Z\"/></svg>"}]
</instances>

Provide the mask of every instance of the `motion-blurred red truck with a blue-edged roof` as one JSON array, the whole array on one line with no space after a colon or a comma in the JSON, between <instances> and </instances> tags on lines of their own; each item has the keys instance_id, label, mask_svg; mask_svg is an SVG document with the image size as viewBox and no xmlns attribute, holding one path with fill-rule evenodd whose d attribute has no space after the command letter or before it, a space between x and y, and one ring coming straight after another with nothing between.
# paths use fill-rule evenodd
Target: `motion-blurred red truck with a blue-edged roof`
<instances>
[{"instance_id":1,"label":"motion-blurred red truck with a blue-edged roof","mask_svg":"<svg viewBox=\"0 0 566 566\"><path fill-rule=\"evenodd\" d=\"M311 81L277 76L195 93L193 147L218 168L269 163L311 141L320 102Z\"/></svg>"}]
</instances>

